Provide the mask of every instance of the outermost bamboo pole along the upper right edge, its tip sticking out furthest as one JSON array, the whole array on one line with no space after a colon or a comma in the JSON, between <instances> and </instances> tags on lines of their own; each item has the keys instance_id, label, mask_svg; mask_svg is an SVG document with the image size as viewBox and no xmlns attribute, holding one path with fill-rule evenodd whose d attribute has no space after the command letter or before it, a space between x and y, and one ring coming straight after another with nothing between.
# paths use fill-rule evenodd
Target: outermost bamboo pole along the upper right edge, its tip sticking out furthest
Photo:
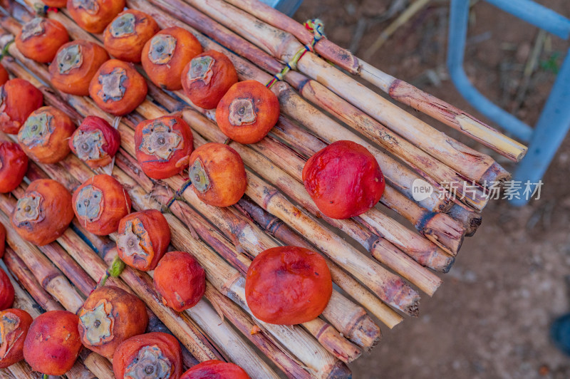
<instances>
[{"instance_id":1,"label":"outermost bamboo pole along the upper right edge, its tip sticking out furthest","mask_svg":"<svg viewBox=\"0 0 570 379\"><path fill-rule=\"evenodd\" d=\"M301 43L311 43L313 34L307 28L279 11L267 6L258 0L225 0L237 6L249 14L268 24L287 31L301 41ZM350 51L337 46L328 39L321 39L315 46L316 52L323 58L336 63L353 75L360 76L369 83L373 83L378 88L388 93L390 97L406 105L410 105L416 110L430 115L451 128L472 137L483 145L498 152L504 157L515 162L524 157L527 147L511 138L499 133L494 128L483 123L472 115L450 105L449 103L435 98L435 96L425 93L405 81L396 79L393 76L383 73L353 56Z\"/></svg>"}]
</instances>

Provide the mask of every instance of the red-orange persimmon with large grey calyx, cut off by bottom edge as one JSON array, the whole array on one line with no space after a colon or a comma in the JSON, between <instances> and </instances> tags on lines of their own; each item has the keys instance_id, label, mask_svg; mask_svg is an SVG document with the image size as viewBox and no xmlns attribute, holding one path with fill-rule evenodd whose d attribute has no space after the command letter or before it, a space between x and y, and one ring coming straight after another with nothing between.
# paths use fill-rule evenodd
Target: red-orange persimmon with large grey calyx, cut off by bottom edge
<instances>
[{"instance_id":1,"label":"red-orange persimmon with large grey calyx, cut off by bottom edge","mask_svg":"<svg viewBox=\"0 0 570 379\"><path fill-rule=\"evenodd\" d=\"M178 379L182 373L180 343L162 332L131 337L113 354L113 373L115 378Z\"/></svg>"}]
</instances>

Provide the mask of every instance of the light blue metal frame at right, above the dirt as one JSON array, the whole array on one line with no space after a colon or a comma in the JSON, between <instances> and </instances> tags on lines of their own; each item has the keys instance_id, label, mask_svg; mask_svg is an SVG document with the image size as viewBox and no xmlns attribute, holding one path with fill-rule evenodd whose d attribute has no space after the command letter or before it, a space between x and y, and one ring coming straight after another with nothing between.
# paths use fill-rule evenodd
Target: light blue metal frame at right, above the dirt
<instances>
[{"instance_id":1,"label":"light blue metal frame at right, above the dirt","mask_svg":"<svg viewBox=\"0 0 570 379\"><path fill-rule=\"evenodd\" d=\"M570 20L530 0L485 0L514 16L560 38L570 36ZM469 0L452 0L447 68L457 90L477 110L502 126L519 139L530 142L529 152L514 173L513 180L539 182L550 165L556 150L570 129L570 51L556 78L546 105L534 128L494 105L470 83L463 69ZM511 200L514 205L524 205L527 200L519 196Z\"/></svg>"}]
</instances>

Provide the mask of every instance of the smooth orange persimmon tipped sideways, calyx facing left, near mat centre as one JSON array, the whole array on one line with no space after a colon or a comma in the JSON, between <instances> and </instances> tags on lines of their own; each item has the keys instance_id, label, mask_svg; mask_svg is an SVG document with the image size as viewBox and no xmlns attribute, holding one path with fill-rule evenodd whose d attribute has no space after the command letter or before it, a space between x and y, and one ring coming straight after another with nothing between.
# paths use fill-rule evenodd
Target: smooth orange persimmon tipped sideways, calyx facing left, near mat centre
<instances>
[{"instance_id":1,"label":"smooth orange persimmon tipped sideways, calyx facing left, near mat centre","mask_svg":"<svg viewBox=\"0 0 570 379\"><path fill-rule=\"evenodd\" d=\"M194 150L189 176L197 197L216 207L237 203L247 187L242 157L223 143L207 143Z\"/></svg>"}]
</instances>

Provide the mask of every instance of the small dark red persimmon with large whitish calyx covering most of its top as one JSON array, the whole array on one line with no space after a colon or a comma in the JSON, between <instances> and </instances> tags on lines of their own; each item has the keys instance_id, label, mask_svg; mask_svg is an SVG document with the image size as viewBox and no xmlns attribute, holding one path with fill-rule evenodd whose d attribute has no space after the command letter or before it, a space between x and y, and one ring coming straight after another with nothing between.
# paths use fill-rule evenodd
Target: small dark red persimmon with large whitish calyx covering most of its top
<instances>
[{"instance_id":1,"label":"small dark red persimmon with large whitish calyx covering most of its top","mask_svg":"<svg viewBox=\"0 0 570 379\"><path fill-rule=\"evenodd\" d=\"M119 150L120 133L103 118L87 116L69 139L73 154L91 168L103 167L113 161Z\"/></svg>"}]
</instances>

